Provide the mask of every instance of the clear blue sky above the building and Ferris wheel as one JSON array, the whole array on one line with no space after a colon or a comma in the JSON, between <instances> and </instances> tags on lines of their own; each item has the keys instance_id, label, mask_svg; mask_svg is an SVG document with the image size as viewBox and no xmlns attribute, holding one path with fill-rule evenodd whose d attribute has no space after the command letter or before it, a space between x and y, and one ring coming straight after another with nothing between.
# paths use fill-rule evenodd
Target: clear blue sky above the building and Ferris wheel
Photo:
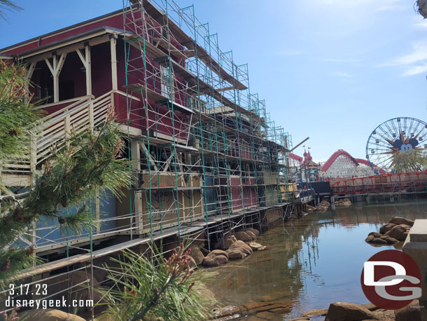
<instances>
[{"instance_id":1,"label":"clear blue sky above the building and Ferris wheel","mask_svg":"<svg viewBox=\"0 0 427 321\"><path fill-rule=\"evenodd\" d=\"M0 48L122 8L120 0L16 1ZM195 5L223 51L248 62L251 93L315 161L364 158L389 118L426 121L427 20L407 0L176 0ZM60 5L59 5L60 4ZM303 153L302 148L295 151Z\"/></svg>"}]
</instances>

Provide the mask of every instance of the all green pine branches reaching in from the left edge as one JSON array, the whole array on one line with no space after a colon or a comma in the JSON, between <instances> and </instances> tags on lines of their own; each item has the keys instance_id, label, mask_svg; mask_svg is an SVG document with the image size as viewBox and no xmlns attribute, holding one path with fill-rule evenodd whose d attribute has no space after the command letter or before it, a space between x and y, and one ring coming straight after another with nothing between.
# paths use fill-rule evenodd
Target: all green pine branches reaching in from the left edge
<instances>
[{"instance_id":1,"label":"all green pine branches reaching in from the left edge","mask_svg":"<svg viewBox=\"0 0 427 321\"><path fill-rule=\"evenodd\" d=\"M0 61L0 163L27 154L30 132L37 132L38 114L29 104L24 69ZM112 111L98 128L70 132L69 139L43 164L34 183L14 195L0 182L0 282L36 263L33 249L16 250L18 238L34 228L41 217L56 219L60 228L82 233L94 228L94 214L87 204L97 193L112 191L120 196L130 184L129 164L120 158L123 134ZM61 215L63 208L77 208L76 214Z\"/></svg>"}]
</instances>

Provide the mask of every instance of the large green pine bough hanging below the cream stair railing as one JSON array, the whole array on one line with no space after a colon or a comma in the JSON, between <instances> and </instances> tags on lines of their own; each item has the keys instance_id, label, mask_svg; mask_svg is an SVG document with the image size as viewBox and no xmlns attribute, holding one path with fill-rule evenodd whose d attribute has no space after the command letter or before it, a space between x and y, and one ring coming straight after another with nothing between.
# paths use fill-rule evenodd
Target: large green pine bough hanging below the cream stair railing
<instances>
[{"instance_id":1,"label":"large green pine bough hanging below the cream stair railing","mask_svg":"<svg viewBox=\"0 0 427 321\"><path fill-rule=\"evenodd\" d=\"M95 133L91 130L78 135L71 133L67 144L69 148L55 151L45 163L27 197L9 203L8 212L0 219L0 248L25 233L41 217L57 219L60 226L74 233L93 228L94 214L87 202L95 197L97 190L113 191L120 196L120 188L129 184L127 161L118 158L124 146L122 135L113 118ZM66 217L57 214L60 207L73 206L78 206L76 214ZM2 255L9 254L0 252ZM14 259L13 255L9 259ZM6 277L5 271L0 271L0 280Z\"/></svg>"}]
</instances>

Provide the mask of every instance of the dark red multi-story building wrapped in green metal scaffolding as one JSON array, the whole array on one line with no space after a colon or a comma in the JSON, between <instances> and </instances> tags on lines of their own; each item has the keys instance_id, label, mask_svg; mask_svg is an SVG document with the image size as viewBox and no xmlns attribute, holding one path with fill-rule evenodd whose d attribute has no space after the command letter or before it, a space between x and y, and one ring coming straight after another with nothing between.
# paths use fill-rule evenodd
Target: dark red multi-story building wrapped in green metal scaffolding
<instances>
[{"instance_id":1,"label":"dark red multi-story building wrapped in green metal scaffolding","mask_svg":"<svg viewBox=\"0 0 427 321\"><path fill-rule=\"evenodd\" d=\"M247 64L221 51L193 6L130 1L0 55L27 63L30 90L48 102L38 107L48 116L29 139L31 153L1 168L8 186L29 186L50 148L71 128L96 128L109 105L128 134L136 178L125 198L92 202L96 230L68 235L43 221L20 238L49 261L22 278L102 269L101 257L171 235L205 233L209 246L230 229L290 214L292 191L281 191L290 135L249 89Z\"/></svg>"}]
</instances>

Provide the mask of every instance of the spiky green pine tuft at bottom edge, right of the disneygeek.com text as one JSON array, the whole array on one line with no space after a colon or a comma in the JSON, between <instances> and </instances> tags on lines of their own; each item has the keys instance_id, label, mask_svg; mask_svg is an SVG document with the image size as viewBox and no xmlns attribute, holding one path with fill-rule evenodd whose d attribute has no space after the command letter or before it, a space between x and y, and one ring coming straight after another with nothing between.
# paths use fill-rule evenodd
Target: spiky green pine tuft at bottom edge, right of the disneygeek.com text
<instances>
[{"instance_id":1,"label":"spiky green pine tuft at bottom edge, right of the disneygeek.com text","mask_svg":"<svg viewBox=\"0 0 427 321\"><path fill-rule=\"evenodd\" d=\"M109 278L115 287L101 292L114 320L208 320L209 312L191 289L193 270L183 245L169 259L146 259L127 250ZM161 256L160 256L161 258Z\"/></svg>"}]
</instances>

